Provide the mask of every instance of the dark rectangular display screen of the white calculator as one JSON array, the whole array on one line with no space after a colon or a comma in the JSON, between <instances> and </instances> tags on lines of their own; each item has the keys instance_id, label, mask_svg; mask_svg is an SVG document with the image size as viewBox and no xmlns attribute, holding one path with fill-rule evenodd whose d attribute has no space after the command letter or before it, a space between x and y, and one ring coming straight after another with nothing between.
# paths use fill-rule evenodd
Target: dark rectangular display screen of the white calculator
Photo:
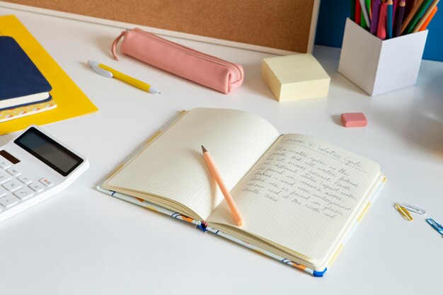
<instances>
[{"instance_id":1,"label":"dark rectangular display screen of the white calculator","mask_svg":"<svg viewBox=\"0 0 443 295\"><path fill-rule=\"evenodd\" d=\"M63 176L69 175L84 161L34 127L30 127L14 143Z\"/></svg>"}]
</instances>

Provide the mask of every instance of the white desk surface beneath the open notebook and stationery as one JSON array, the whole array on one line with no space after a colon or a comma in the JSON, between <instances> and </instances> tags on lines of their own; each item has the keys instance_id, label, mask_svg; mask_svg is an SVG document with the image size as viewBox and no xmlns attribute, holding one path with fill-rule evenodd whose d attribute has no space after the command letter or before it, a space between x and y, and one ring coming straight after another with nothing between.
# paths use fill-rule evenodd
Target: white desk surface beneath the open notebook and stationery
<instances>
[{"instance_id":1,"label":"white desk surface beneath the open notebook and stationery","mask_svg":"<svg viewBox=\"0 0 443 295\"><path fill-rule=\"evenodd\" d=\"M337 73L340 50L316 47L331 76L328 98L277 103L260 79L270 54L172 39L242 64L243 86L226 96L120 54L118 28L1 8L15 14L99 112L44 128L88 157L67 190L0 224L0 294L442 294L443 63L423 61L416 86L369 97ZM161 96L105 79L95 59L152 83ZM178 110L235 108L282 133L304 133L378 162L389 181L325 277L315 278L94 187ZM364 112L365 128L340 125ZM0 137L6 144L16 134ZM427 210L408 222L393 208Z\"/></svg>"}]
</instances>

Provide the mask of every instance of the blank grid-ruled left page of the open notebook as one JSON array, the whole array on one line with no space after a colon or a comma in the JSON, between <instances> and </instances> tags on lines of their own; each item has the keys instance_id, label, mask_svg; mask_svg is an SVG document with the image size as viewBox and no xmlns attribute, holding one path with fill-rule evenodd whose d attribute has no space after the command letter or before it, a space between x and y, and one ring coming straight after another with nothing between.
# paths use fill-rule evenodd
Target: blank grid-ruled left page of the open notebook
<instances>
[{"instance_id":1,"label":"blank grid-ruled left page of the open notebook","mask_svg":"<svg viewBox=\"0 0 443 295\"><path fill-rule=\"evenodd\" d=\"M113 175L108 185L173 199L206 219L224 197L201 146L231 190L278 136L270 123L249 112L197 108Z\"/></svg>"}]
</instances>

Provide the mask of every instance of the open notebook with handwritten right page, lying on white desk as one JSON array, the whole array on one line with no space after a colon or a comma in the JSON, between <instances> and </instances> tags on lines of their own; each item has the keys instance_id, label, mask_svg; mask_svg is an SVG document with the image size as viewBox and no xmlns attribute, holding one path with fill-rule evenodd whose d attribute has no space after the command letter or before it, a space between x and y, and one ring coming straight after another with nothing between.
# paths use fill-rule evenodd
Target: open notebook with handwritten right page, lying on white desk
<instances>
[{"instance_id":1,"label":"open notebook with handwritten right page, lying on white desk","mask_svg":"<svg viewBox=\"0 0 443 295\"><path fill-rule=\"evenodd\" d=\"M241 227L203 159L202 145L231 190L245 221ZM196 108L99 189L176 212L321 276L382 183L378 164L326 141L280 135L249 112Z\"/></svg>"}]
</instances>

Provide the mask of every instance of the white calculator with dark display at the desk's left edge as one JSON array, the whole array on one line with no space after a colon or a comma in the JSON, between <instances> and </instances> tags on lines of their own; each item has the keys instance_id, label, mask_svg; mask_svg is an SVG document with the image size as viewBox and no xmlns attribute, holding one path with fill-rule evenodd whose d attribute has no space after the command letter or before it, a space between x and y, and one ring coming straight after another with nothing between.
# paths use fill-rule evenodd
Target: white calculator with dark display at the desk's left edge
<instances>
[{"instance_id":1,"label":"white calculator with dark display at the desk's left edge","mask_svg":"<svg viewBox=\"0 0 443 295\"><path fill-rule=\"evenodd\" d=\"M0 221L64 190L88 160L33 125L0 147Z\"/></svg>"}]
</instances>

